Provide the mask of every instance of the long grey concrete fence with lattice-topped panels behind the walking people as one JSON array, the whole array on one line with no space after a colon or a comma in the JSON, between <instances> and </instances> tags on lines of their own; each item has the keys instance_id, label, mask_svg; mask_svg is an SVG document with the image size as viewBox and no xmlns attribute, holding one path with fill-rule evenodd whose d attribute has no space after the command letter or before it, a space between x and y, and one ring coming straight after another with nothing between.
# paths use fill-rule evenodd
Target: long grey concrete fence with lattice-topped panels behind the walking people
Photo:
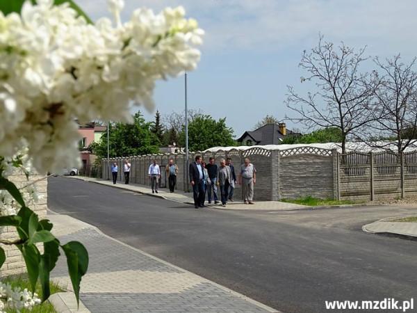
<instances>
[{"instance_id":1,"label":"long grey concrete fence with lattice-topped panels behind the walking people","mask_svg":"<svg viewBox=\"0 0 417 313\"><path fill-rule=\"evenodd\" d=\"M240 165L248 157L257 170L255 200L294 199L311 195L315 198L335 200L381 200L417 194L417 151L403 152L348 152L313 146L271 150L252 147L247 150L228 149L201 155L208 162L216 163L230 157L239 174ZM174 159L179 167L177 190L188 191L185 154L149 154L145 156L112 158L101 162L101 177L111 179L109 163L116 162L120 170L119 182L123 182L124 159L131 161L131 182L149 185L148 168L154 159L161 166L161 188L167 186L165 166ZM241 188L236 186L236 198Z\"/></svg>"}]
</instances>

